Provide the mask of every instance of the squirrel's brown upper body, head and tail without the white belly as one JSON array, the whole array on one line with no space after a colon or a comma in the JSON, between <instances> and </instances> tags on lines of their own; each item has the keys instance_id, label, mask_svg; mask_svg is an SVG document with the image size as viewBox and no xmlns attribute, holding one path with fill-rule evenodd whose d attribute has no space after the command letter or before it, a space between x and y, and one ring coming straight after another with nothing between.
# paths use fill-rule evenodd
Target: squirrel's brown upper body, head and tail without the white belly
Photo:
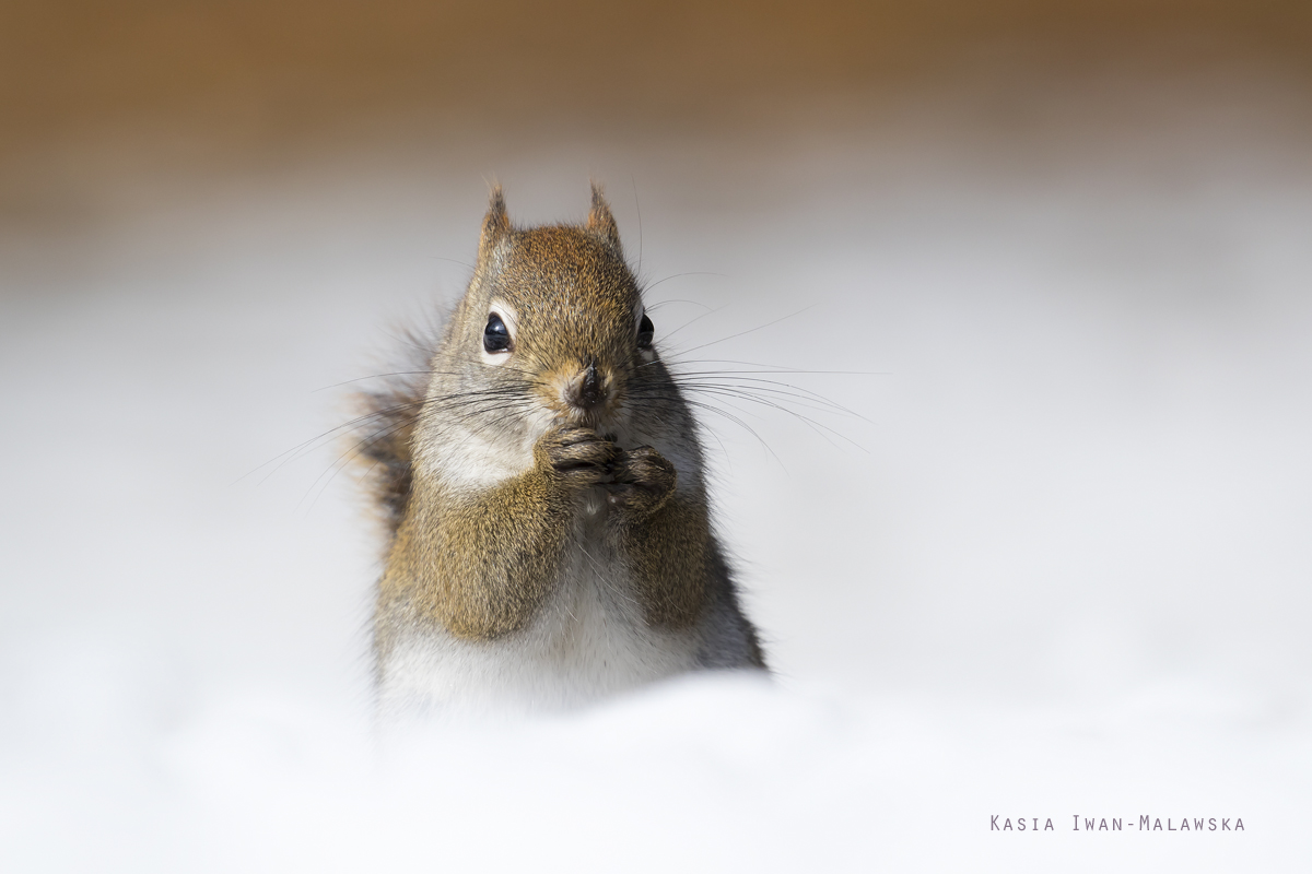
<instances>
[{"instance_id":1,"label":"squirrel's brown upper body, head and tail without the white belly","mask_svg":"<svg viewBox=\"0 0 1312 874\"><path fill-rule=\"evenodd\" d=\"M510 350L484 349L489 313ZM361 455L390 533L380 674L404 636L521 632L589 562L651 633L705 637L706 666L764 664L711 533L695 422L635 339L640 317L598 189L585 225L525 231L493 191L470 288L422 376L362 396L374 436Z\"/></svg>"}]
</instances>

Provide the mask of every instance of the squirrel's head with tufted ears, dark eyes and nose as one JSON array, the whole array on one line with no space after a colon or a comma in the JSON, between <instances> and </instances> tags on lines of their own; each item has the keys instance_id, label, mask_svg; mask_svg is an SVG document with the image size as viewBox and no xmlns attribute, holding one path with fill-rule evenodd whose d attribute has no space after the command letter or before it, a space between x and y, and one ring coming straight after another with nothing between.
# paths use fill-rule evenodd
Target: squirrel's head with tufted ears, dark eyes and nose
<instances>
[{"instance_id":1,"label":"squirrel's head with tufted ears, dark eyes and nose","mask_svg":"<svg viewBox=\"0 0 1312 874\"><path fill-rule=\"evenodd\" d=\"M492 191L454 329L447 346L459 349L450 351L497 381L529 385L555 419L585 427L613 421L636 368L656 355L619 229L596 185L586 224L529 229L510 224L501 189Z\"/></svg>"}]
</instances>

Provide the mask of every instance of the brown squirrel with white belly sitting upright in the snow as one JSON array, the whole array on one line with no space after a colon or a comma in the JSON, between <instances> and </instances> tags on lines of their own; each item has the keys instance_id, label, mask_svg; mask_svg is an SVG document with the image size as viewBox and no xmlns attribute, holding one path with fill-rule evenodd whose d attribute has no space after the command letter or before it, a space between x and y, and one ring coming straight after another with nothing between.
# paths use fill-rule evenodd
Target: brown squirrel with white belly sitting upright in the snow
<instances>
[{"instance_id":1,"label":"brown squirrel with white belly sitting upright in the snow","mask_svg":"<svg viewBox=\"0 0 1312 874\"><path fill-rule=\"evenodd\" d=\"M698 426L598 185L581 225L514 227L415 377L361 394L387 533L382 714L559 710L765 658L712 524Z\"/></svg>"}]
</instances>

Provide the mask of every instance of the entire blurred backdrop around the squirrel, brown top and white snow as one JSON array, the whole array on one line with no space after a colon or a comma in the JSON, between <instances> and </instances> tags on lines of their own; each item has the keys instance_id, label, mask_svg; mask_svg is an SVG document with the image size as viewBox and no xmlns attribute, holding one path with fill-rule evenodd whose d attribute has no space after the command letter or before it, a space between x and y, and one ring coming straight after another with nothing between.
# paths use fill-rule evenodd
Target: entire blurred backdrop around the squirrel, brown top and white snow
<instances>
[{"instance_id":1,"label":"entire blurred backdrop around the squirrel, brown top and white snow","mask_svg":"<svg viewBox=\"0 0 1312 874\"><path fill-rule=\"evenodd\" d=\"M845 408L705 398L778 683L378 782L341 384L589 178L668 358ZM1298 870L1309 288L1305 3L9 0L0 854Z\"/></svg>"}]
</instances>

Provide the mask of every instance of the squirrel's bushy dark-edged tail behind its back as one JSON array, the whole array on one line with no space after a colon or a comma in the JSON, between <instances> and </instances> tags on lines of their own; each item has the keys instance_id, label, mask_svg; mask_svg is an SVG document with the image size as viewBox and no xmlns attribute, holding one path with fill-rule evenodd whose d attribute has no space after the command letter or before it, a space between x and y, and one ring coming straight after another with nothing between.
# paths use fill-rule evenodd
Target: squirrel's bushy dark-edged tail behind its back
<instances>
[{"instance_id":1,"label":"squirrel's bushy dark-edged tail behind its back","mask_svg":"<svg viewBox=\"0 0 1312 874\"><path fill-rule=\"evenodd\" d=\"M387 531L396 535L409 502L411 440L428 392L434 345L417 334L405 337L409 362L379 377L380 385L354 394L359 427L352 435L354 460L365 468L362 481Z\"/></svg>"}]
</instances>

